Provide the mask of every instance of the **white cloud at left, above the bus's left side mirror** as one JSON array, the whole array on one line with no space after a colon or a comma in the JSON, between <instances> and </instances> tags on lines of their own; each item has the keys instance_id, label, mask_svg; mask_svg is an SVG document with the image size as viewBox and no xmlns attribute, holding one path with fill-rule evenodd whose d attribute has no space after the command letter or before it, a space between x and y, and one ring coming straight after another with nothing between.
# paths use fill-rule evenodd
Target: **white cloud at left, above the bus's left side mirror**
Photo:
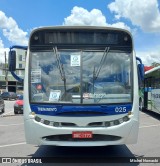
<instances>
[{"instance_id":1,"label":"white cloud at left, above the bus's left side mirror","mask_svg":"<svg viewBox=\"0 0 160 166\"><path fill-rule=\"evenodd\" d=\"M0 29L12 44L28 44L27 32L20 29L16 21L12 17L7 17L2 11L0 11Z\"/></svg>"}]
</instances>

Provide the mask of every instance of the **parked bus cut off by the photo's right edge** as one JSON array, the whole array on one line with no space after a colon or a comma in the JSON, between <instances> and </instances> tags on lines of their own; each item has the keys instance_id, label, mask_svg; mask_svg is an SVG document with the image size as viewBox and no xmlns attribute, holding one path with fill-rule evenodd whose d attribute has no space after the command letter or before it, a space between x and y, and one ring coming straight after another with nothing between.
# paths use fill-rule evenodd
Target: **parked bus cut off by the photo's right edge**
<instances>
[{"instance_id":1,"label":"parked bus cut off by the photo's right edge","mask_svg":"<svg viewBox=\"0 0 160 166\"><path fill-rule=\"evenodd\" d=\"M144 109L160 114L160 66L145 72Z\"/></svg>"}]
</instances>

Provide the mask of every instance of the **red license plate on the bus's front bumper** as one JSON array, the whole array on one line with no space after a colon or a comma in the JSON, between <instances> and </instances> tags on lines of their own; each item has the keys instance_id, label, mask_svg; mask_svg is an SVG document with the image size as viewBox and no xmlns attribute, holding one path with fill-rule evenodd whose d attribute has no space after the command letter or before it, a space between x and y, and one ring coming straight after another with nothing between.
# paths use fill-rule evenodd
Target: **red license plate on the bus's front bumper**
<instances>
[{"instance_id":1,"label":"red license plate on the bus's front bumper","mask_svg":"<svg viewBox=\"0 0 160 166\"><path fill-rule=\"evenodd\" d=\"M93 138L93 133L92 131L73 131L72 132L72 138Z\"/></svg>"}]
</instances>

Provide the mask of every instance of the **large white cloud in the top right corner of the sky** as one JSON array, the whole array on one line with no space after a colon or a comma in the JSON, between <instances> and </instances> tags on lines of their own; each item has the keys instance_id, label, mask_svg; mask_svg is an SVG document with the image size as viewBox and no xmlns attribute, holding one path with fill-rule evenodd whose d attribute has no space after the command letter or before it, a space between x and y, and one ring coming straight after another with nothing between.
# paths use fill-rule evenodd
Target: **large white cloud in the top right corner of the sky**
<instances>
[{"instance_id":1,"label":"large white cloud in the top right corner of the sky","mask_svg":"<svg viewBox=\"0 0 160 166\"><path fill-rule=\"evenodd\" d=\"M160 11L157 0L115 0L108 5L115 18L129 19L145 32L160 32Z\"/></svg>"}]
</instances>

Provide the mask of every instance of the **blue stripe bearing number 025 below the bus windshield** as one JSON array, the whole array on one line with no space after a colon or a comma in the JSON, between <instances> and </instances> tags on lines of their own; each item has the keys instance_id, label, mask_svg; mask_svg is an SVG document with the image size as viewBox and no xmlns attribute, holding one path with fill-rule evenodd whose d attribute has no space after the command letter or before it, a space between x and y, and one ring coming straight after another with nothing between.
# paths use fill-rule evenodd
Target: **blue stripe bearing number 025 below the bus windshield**
<instances>
[{"instance_id":1,"label":"blue stripe bearing number 025 below the bus windshield","mask_svg":"<svg viewBox=\"0 0 160 166\"><path fill-rule=\"evenodd\" d=\"M99 106L62 106L31 104L32 112L49 116L107 116L126 114L132 110L132 104Z\"/></svg>"}]
</instances>

